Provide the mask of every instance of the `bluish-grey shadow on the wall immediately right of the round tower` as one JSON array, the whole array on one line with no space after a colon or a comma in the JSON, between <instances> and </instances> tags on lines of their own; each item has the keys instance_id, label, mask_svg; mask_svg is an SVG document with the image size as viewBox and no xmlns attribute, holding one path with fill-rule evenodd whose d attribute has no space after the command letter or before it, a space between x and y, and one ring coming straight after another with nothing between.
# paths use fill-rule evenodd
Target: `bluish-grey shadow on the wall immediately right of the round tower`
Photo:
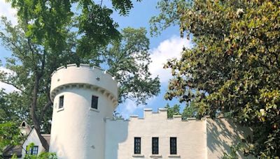
<instances>
[{"instance_id":1,"label":"bluish-grey shadow on the wall immediately right of the round tower","mask_svg":"<svg viewBox=\"0 0 280 159\"><path fill-rule=\"evenodd\" d=\"M118 159L119 144L127 140L128 124L124 119L106 121L105 158Z\"/></svg>"}]
</instances>

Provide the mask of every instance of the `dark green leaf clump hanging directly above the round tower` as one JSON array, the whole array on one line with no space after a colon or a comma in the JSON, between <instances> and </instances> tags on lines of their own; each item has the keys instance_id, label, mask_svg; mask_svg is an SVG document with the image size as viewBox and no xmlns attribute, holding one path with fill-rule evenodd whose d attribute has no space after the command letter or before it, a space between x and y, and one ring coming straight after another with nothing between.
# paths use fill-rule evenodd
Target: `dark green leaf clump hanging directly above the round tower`
<instances>
[{"instance_id":1,"label":"dark green leaf clump hanging directly above the round tower","mask_svg":"<svg viewBox=\"0 0 280 159\"><path fill-rule=\"evenodd\" d=\"M78 34L82 37L78 40L77 53L85 56L97 52L99 47L104 47L111 40L120 38L118 24L110 17L113 10L100 7L97 4L84 6L83 14L78 17Z\"/></svg>"}]
</instances>

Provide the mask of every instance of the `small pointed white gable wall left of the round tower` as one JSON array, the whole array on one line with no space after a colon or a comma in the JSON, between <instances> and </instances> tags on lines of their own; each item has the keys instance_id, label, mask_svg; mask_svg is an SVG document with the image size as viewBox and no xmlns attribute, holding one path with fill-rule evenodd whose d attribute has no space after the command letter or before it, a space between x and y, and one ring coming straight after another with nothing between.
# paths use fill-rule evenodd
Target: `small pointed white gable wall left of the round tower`
<instances>
[{"instance_id":1,"label":"small pointed white gable wall left of the round tower","mask_svg":"<svg viewBox=\"0 0 280 159\"><path fill-rule=\"evenodd\" d=\"M38 154L41 153L42 151L45 151L45 149L43 148L43 145L41 144L41 141L37 135L37 132L35 129L32 129L31 132L29 133L29 135L27 136L27 139L25 140L25 142L22 144L22 158L25 158L25 150L27 148L27 146L31 143L34 143L34 146L38 146Z\"/></svg>"}]
</instances>

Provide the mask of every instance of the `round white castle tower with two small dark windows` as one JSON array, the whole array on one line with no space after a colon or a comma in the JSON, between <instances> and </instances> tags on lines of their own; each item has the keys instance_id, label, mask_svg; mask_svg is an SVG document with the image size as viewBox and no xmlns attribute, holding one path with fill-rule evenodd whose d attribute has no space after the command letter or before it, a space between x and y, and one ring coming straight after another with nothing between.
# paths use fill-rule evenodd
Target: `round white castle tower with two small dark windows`
<instances>
[{"instance_id":1,"label":"round white castle tower with two small dark windows","mask_svg":"<svg viewBox=\"0 0 280 159\"><path fill-rule=\"evenodd\" d=\"M101 68L76 64L52 73L50 152L58 158L104 158L105 122L118 105L118 84Z\"/></svg>"}]
</instances>

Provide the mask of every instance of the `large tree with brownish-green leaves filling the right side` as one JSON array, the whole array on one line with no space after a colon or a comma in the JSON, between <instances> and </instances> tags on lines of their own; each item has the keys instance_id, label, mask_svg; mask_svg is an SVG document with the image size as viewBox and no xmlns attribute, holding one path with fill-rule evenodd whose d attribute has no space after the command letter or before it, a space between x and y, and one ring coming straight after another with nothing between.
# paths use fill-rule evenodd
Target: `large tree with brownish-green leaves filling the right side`
<instances>
[{"instance_id":1,"label":"large tree with brownish-green leaves filling the right side","mask_svg":"<svg viewBox=\"0 0 280 159\"><path fill-rule=\"evenodd\" d=\"M250 152L280 156L279 1L160 1L153 31L179 24L192 49L167 62L167 99L195 102L198 114L229 114L253 128ZM195 90L195 91L194 91Z\"/></svg>"}]
</instances>

